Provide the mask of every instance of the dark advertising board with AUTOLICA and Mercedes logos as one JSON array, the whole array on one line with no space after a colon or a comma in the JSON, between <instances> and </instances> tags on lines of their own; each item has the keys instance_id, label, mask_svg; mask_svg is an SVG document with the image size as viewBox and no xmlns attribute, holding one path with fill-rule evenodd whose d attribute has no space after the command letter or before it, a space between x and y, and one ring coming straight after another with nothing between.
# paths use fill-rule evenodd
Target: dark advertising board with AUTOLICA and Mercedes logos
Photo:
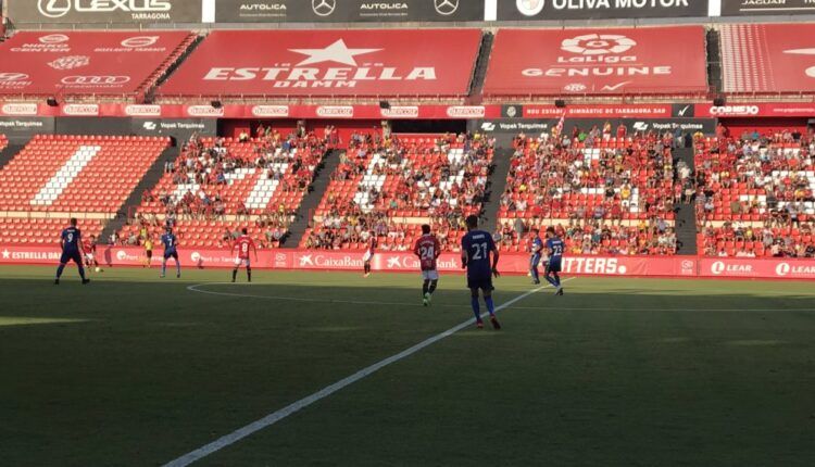
<instances>
[{"instance_id":1,"label":"dark advertising board with AUTOLICA and Mercedes logos","mask_svg":"<svg viewBox=\"0 0 815 467\"><path fill-rule=\"evenodd\" d=\"M484 21L482 0L216 0L217 23Z\"/></svg>"}]
</instances>

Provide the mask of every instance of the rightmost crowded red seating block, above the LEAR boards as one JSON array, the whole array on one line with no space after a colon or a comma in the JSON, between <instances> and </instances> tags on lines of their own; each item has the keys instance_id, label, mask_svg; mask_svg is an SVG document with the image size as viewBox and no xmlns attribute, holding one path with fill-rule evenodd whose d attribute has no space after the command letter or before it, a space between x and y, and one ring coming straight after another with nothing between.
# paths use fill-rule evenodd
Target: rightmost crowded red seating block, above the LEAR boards
<instances>
[{"instance_id":1,"label":"rightmost crowded red seating block, above the LEAR boards","mask_svg":"<svg viewBox=\"0 0 815 467\"><path fill-rule=\"evenodd\" d=\"M815 140L799 131L700 138L695 209L700 254L815 254Z\"/></svg>"}]
</instances>

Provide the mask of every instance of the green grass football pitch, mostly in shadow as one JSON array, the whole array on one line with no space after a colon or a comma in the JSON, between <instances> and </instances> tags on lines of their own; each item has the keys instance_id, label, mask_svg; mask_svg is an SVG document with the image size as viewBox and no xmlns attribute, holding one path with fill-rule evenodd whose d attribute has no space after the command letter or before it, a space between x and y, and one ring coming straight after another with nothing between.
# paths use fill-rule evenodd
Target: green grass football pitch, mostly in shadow
<instances>
[{"instance_id":1,"label":"green grass football pitch, mostly in shadow","mask_svg":"<svg viewBox=\"0 0 815 467\"><path fill-rule=\"evenodd\" d=\"M3 466L815 465L813 283L502 277L494 331L461 276L53 272L0 267Z\"/></svg>"}]
</instances>

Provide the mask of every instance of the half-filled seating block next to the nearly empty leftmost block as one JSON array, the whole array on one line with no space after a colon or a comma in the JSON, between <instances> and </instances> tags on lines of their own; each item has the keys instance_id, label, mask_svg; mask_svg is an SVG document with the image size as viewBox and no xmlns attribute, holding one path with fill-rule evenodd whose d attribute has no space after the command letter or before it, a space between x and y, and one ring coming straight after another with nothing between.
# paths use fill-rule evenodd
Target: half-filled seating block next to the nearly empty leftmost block
<instances>
[{"instance_id":1,"label":"half-filled seating block next to the nearly empty leftmost block","mask_svg":"<svg viewBox=\"0 0 815 467\"><path fill-rule=\"evenodd\" d=\"M142 193L120 242L141 243L166 226L189 245L223 245L224 231L247 227L264 247L278 245L326 153L314 134L284 137L269 129L255 139L193 138ZM135 237L134 237L135 236Z\"/></svg>"}]
</instances>

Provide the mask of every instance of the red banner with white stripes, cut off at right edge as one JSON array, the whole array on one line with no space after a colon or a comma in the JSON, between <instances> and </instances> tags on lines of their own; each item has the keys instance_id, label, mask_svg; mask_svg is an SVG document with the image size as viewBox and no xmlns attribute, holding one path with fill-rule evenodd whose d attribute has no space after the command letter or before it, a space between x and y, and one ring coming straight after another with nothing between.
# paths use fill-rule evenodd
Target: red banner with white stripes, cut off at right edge
<instances>
[{"instance_id":1,"label":"red banner with white stripes, cut off at right edge","mask_svg":"<svg viewBox=\"0 0 815 467\"><path fill-rule=\"evenodd\" d=\"M725 92L815 90L815 24L720 26Z\"/></svg>"}]
</instances>

